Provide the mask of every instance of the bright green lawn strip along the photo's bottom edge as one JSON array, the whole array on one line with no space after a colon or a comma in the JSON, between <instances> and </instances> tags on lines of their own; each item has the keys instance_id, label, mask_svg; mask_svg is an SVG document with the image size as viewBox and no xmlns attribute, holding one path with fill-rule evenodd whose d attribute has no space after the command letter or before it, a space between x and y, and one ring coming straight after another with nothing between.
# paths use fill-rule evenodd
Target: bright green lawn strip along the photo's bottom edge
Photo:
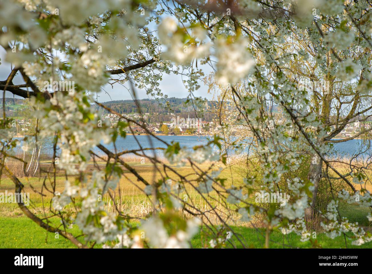
<instances>
[{"instance_id":1,"label":"bright green lawn strip along the photo's bottom edge","mask_svg":"<svg viewBox=\"0 0 372 274\"><path fill-rule=\"evenodd\" d=\"M264 245L264 230L247 227L232 227L242 240L246 247L262 248ZM74 226L68 232L73 235L80 235L79 229ZM349 235L351 236L351 234ZM311 243L301 242L300 236L295 233L282 235L280 232L272 232L270 236L270 248L310 248ZM232 242L238 248L242 245L238 242L235 236L231 237ZM315 239L313 239L315 240ZM343 236L335 239L330 239L323 233L318 233L317 242L323 248L344 248L345 242ZM202 248L208 246L209 239L202 240L201 233L198 233L191 240L193 248ZM347 239L348 248L372 248L372 243L366 243L362 246L352 246L352 240ZM95 247L100 247L97 245ZM229 247L229 246L227 246ZM54 233L47 232L45 229L37 226L32 220L27 217L0 217L0 248L76 248L69 240L61 235L58 239Z\"/></svg>"}]
</instances>

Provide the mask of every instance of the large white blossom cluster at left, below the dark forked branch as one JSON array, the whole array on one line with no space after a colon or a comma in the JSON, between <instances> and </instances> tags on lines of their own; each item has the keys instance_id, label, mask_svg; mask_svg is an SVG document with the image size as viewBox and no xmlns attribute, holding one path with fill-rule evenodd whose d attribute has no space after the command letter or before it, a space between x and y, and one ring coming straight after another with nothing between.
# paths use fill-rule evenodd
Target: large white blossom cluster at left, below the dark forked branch
<instances>
[{"instance_id":1,"label":"large white blossom cluster at left, below the dark forked branch","mask_svg":"<svg viewBox=\"0 0 372 274\"><path fill-rule=\"evenodd\" d=\"M40 120L40 138L57 134L57 145L61 148L58 167L67 174L84 171L90 150L102 140L111 141L108 121L99 120L102 111L93 112L88 100L89 95L80 92L74 95L55 92L44 104L39 104L35 97L30 100L35 108L33 115Z\"/></svg>"}]
</instances>

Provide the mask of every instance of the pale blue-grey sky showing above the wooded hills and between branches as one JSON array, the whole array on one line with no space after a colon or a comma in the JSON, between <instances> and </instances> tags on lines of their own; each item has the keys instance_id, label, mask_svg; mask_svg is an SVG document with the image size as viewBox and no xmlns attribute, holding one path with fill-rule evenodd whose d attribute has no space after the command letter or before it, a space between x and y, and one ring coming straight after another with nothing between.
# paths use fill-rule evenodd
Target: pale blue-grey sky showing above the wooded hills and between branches
<instances>
[{"instance_id":1,"label":"pale blue-grey sky showing above the wooded hills and between branches","mask_svg":"<svg viewBox=\"0 0 372 274\"><path fill-rule=\"evenodd\" d=\"M7 63L5 61L5 58L4 58L5 54L6 54L6 51L4 50L4 48L0 47L0 58L1 58L0 80L2 81L6 80L6 78L8 77L11 71L10 63ZM208 71L206 71L205 73L208 73ZM22 76L20 76L20 74L18 73L15 79L13 80L13 84L19 85L23 83L24 81L22 79ZM207 99L212 99L212 95L207 94L207 87L202 82L199 84L201 85L201 87L199 88L197 92L194 93L194 95L201 96ZM118 83L114 84L113 87L111 85L105 85L103 86L103 89L106 90L106 92L108 92L109 95L103 91L100 92L98 94L99 102L132 99L132 95L130 94L130 92ZM187 89L182 83L182 78L180 74L179 75L174 75L173 73L170 75L164 74L163 80L161 80L160 82L160 89L162 90L164 94L168 95L168 97L185 98L189 95ZM142 89L136 89L136 95L138 99L147 99L147 98L153 99L146 94L145 90L142 90ZM1 97L2 97L2 93L1 93ZM13 98L13 93L6 92L5 97ZM14 97L21 98L19 96L14 96Z\"/></svg>"}]
</instances>

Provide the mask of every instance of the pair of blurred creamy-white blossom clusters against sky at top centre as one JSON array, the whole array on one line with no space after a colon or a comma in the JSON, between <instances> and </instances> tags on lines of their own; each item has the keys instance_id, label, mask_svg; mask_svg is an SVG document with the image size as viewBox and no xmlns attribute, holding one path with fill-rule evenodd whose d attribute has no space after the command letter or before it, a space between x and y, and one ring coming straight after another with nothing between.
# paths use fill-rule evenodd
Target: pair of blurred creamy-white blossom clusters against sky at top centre
<instances>
[{"instance_id":1,"label":"pair of blurred creamy-white blossom clusters against sky at top centre","mask_svg":"<svg viewBox=\"0 0 372 274\"><path fill-rule=\"evenodd\" d=\"M235 41L231 37L218 37L213 40L213 44L212 41L204 42L207 38L205 29L199 26L187 30L179 28L171 17L164 18L158 27L158 34L167 46L162 58L172 60L176 64L186 65L194 59L209 57L213 45L213 54L218 59L216 79L222 84L237 83L246 77L255 65L247 50L248 40L243 37Z\"/></svg>"}]
</instances>

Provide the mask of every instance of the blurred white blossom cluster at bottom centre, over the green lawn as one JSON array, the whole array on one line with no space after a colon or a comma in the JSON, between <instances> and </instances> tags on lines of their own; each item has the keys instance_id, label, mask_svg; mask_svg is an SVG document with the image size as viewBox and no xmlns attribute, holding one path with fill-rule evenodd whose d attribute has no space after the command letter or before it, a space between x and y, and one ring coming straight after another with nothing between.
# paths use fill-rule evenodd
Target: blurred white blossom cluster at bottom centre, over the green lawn
<instances>
[{"instance_id":1,"label":"blurred white blossom cluster at bottom centre, over the green lawn","mask_svg":"<svg viewBox=\"0 0 372 274\"><path fill-rule=\"evenodd\" d=\"M177 230L174 235L169 235L164 227L163 221L153 216L147 219L141 226L145 238L149 240L154 248L189 248L190 239L199 231L201 220L189 219L185 230Z\"/></svg>"}]
</instances>

